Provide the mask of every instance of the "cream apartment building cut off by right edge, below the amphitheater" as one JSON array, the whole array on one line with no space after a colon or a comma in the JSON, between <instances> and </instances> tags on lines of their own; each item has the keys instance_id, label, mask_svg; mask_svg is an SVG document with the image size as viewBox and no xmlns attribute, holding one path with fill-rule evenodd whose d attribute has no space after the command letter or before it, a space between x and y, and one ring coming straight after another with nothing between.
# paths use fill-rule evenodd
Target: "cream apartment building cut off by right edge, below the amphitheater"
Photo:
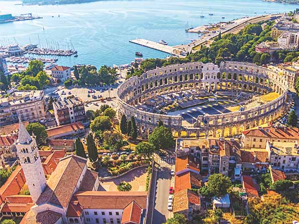
<instances>
[{"instance_id":1,"label":"cream apartment building cut off by right edge, below the amphitheater","mask_svg":"<svg viewBox=\"0 0 299 224\"><path fill-rule=\"evenodd\" d=\"M299 172L298 142L267 141L269 163L273 169Z\"/></svg>"}]
</instances>

